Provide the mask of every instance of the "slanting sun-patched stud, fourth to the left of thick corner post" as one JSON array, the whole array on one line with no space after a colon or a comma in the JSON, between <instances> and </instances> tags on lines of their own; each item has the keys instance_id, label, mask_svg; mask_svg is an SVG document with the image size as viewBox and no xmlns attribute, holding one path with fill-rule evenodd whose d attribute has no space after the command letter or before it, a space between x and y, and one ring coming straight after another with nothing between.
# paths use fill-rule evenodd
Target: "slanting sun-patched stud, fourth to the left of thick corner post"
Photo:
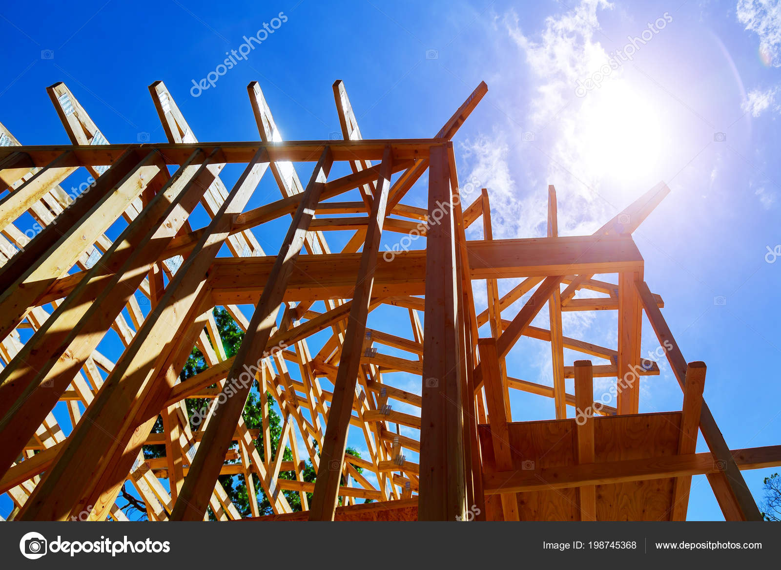
<instances>
[{"instance_id":1,"label":"slanting sun-patched stud, fourth to the left of thick corner post","mask_svg":"<svg viewBox=\"0 0 781 570\"><path fill-rule=\"evenodd\" d=\"M198 156L198 152L193 153ZM208 163L208 162L207 162ZM173 238L198 205L211 177L205 164L185 164L148 203L77 288L0 372L0 473L91 357L112 320L150 271L166 239ZM115 271L106 282L105 273ZM62 357L66 354L67 357Z\"/></svg>"}]
</instances>

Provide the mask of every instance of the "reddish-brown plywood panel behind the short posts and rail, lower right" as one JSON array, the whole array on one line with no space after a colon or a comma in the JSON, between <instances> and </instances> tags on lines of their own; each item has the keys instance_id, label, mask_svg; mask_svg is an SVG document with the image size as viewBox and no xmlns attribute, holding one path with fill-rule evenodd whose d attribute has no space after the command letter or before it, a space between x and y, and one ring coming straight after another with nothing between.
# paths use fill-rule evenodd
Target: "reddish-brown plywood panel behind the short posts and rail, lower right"
<instances>
[{"instance_id":1,"label":"reddish-brown plywood panel behind the short posts and rail, lower right","mask_svg":"<svg viewBox=\"0 0 781 570\"><path fill-rule=\"evenodd\" d=\"M680 412L594 418L594 458L597 462L675 455ZM508 425L515 469L562 467L576 464L574 419L516 421ZM490 426L480 425L483 471L495 471ZM597 485L597 520L669 520L673 479L653 479ZM523 521L579 521L578 489L551 489L515 493ZM503 520L501 497L486 497L487 520Z\"/></svg>"}]
</instances>

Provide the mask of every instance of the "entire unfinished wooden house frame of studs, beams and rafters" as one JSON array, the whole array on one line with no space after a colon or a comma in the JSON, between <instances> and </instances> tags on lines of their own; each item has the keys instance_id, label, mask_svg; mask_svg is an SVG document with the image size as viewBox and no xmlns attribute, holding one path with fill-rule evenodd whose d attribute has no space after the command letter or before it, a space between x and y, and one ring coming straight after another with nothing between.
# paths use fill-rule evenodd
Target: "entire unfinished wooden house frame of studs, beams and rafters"
<instances>
[{"instance_id":1,"label":"entire unfinished wooden house frame of studs, beams and rafters","mask_svg":"<svg viewBox=\"0 0 781 570\"><path fill-rule=\"evenodd\" d=\"M695 474L708 475L728 520L759 518L740 469L781 464L781 446L729 450L702 399L704 365L686 364L631 238L669 192L665 185L580 237L558 236L551 186L546 238L494 240L487 190L462 207L450 142L485 84L433 138L364 140L337 81L344 140L297 142L283 142L255 82L248 86L255 142L198 142L166 86L149 90L164 144L109 144L62 83L48 92L71 145L23 146L0 125L0 492L16 505L11 518L123 520L117 496L126 484L150 520L200 520L209 511L219 520L241 518L220 474L247 479L255 517L257 478L270 518L280 520L647 518L637 493L621 485L664 479L669 497L654 518L683 520ZM227 188L220 174L230 163L245 166ZM314 163L306 185L292 163ZM330 176L337 163L347 163L348 174ZM93 182L74 201L59 185L82 168ZM281 198L247 209L269 170ZM426 173L428 207L402 203ZM209 223L194 229L188 218L199 206ZM33 238L20 229L30 216ZM285 217L291 224L279 251L264 252L253 229ZM483 239L468 240L466 229L480 217ZM109 239L106 231L117 226L118 237ZM330 232L350 236L339 253L329 248ZM425 237L416 242L422 249L383 255L383 238L394 232ZM601 274L617 274L617 284L594 279ZM519 284L500 296L498 279ZM488 307L478 314L473 286L480 281ZM578 296L583 291L588 296ZM508 314L519 299L521 309ZM248 320L238 306L250 303ZM545 305L548 329L531 324ZM225 307L245 331L230 359L214 307ZM408 319L408 337L368 328L379 307ZM562 311L572 310L617 312L617 348L565 336ZM609 420L620 433L651 421L638 414L640 381L658 374L656 363L640 357L643 313L683 389L683 410L659 417L676 425L674 442L659 443L661 455L623 453L632 451L631 440L605 455L601 438L612 432L594 410L628 422ZM484 324L490 335L480 339ZM115 333L123 350L109 359L98 344ZM524 336L550 342L552 387L508 373L505 359ZM209 367L180 381L194 346ZM565 349L608 364L568 365ZM398 371L419 378L419 392L394 385ZM616 378L615 406L594 401L594 376ZM574 394L566 393L566 378L575 379ZM260 457L255 445L271 449L268 418L259 431L242 418L253 386L284 417L276 457ZM553 400L558 427L541 429L573 438L562 464L520 451L513 434L537 428L512 421L511 389ZM187 398L216 402L198 429ZM55 407L66 410L67 437ZM567 419L568 407L576 419ZM159 417L164 430L151 433ZM345 454L350 428L362 433L368 458ZM710 453L695 453L698 431ZM165 446L166 456L144 459L144 444ZM286 448L293 461L284 461ZM302 479L306 460L315 483ZM355 484L345 485L349 479ZM634 510L597 508L604 486L634 500ZM551 489L574 493L573 514L528 508L523 497ZM659 489L646 490L656 497ZM305 511L291 512L282 491L299 493ZM356 504L367 499L376 504Z\"/></svg>"}]
</instances>

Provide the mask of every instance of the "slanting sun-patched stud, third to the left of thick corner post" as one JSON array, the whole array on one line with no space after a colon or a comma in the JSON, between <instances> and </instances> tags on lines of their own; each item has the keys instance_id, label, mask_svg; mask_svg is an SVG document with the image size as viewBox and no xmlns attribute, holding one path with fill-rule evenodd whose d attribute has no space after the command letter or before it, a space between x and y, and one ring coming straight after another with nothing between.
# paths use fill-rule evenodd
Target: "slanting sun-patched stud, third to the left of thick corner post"
<instances>
[{"instance_id":1,"label":"slanting sun-patched stud, third to the left of thick corner post","mask_svg":"<svg viewBox=\"0 0 781 570\"><path fill-rule=\"evenodd\" d=\"M259 150L248 163L209 231L169 282L20 518L64 520L89 504L98 519L109 511L181 370L169 374L169 368L182 353L186 359L194 344L187 328L205 310L201 305L209 293L206 273L227 237L230 218L224 216L241 211L266 170L266 160ZM150 355L157 356L150 360ZM84 477L85 472L90 476ZM59 488L61 480L70 482L65 489Z\"/></svg>"}]
</instances>

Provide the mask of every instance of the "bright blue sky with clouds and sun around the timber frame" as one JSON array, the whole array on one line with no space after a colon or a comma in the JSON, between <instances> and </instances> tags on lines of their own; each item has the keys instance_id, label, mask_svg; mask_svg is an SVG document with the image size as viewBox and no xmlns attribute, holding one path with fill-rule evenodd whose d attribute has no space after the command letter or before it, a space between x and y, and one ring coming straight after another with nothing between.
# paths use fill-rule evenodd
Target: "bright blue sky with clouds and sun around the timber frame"
<instances>
[{"instance_id":1,"label":"bright blue sky with clouds and sun around the timber frame","mask_svg":"<svg viewBox=\"0 0 781 570\"><path fill-rule=\"evenodd\" d=\"M781 9L769 4L110 0L41 2L31 19L17 2L0 9L0 122L23 144L67 143L45 91L64 81L110 142L147 133L162 142L147 89L162 80L199 140L255 140L246 86L259 81L284 138L325 139L340 131L331 84L341 79L365 138L419 138L486 81L487 96L454 140L462 181L489 189L494 237L544 235L548 184L561 234L581 235L666 181L671 194L634 235L646 281L665 299L686 359L708 364L705 398L729 446L773 445ZM191 96L193 81L275 17L279 27L246 59ZM305 168L299 174L308 179ZM424 180L405 202L424 206L425 191ZM275 192L268 177L248 207ZM470 238L480 238L476 226ZM281 233L255 231L267 251ZM475 290L484 306L483 285ZM547 311L535 324L547 326ZM565 313L564 330L615 346L615 314ZM409 336L408 326L398 334ZM656 346L646 323L643 352ZM565 364L580 357L565 351ZM533 340L512 351L508 367L552 383L550 351ZM641 411L680 408L675 378L660 367L641 382ZM411 389L412 378L398 375L398 385ZM606 388L597 382L597 393ZM524 394L514 394L512 411L516 420L554 415L551 400ZM351 443L365 447L356 435ZM768 473L744 471L758 498ZM694 479L689 516L721 518L704 477Z\"/></svg>"}]
</instances>

